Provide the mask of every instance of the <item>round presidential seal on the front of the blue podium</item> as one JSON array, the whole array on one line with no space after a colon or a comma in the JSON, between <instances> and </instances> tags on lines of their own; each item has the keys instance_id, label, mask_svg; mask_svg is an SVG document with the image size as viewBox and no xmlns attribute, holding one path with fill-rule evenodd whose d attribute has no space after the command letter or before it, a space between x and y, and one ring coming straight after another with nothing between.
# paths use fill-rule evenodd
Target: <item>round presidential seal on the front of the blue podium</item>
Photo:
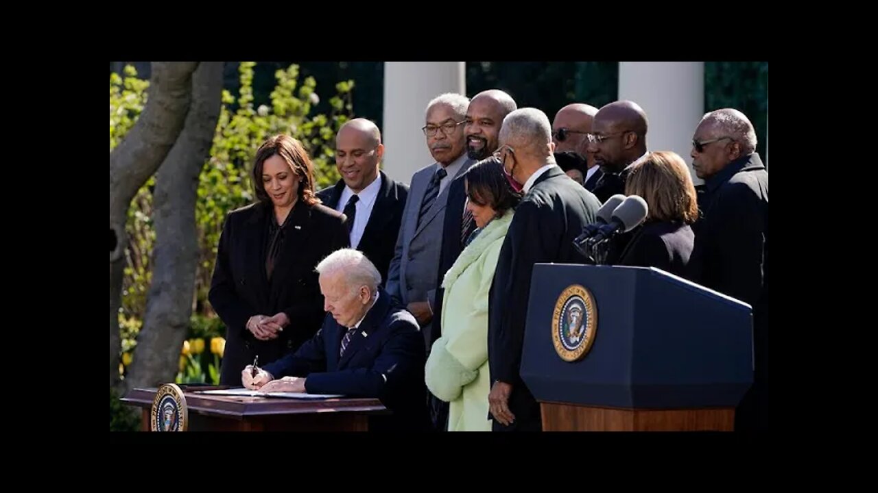
<instances>
[{"instance_id":1,"label":"round presidential seal on the front of the blue podium","mask_svg":"<svg viewBox=\"0 0 878 493\"><path fill-rule=\"evenodd\" d=\"M551 339L564 361L579 361L594 343L598 325L592 293L574 284L561 292L551 317Z\"/></svg>"}]
</instances>

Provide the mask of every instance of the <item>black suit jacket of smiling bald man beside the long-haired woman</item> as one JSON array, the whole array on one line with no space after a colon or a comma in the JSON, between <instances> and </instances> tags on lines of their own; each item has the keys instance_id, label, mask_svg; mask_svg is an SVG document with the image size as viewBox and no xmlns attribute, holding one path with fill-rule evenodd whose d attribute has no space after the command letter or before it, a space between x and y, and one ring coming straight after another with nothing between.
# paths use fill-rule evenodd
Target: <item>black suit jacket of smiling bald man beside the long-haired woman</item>
<instances>
[{"instance_id":1,"label":"black suit jacket of smiling bald man beside the long-haired woman","mask_svg":"<svg viewBox=\"0 0 878 493\"><path fill-rule=\"evenodd\" d=\"M375 268L378 268L381 278L386 283L387 270L390 268L393 249L396 247L396 237L399 236L402 211L406 208L408 186L391 180L384 171L378 173L381 176L381 189L378 190L378 198L375 199L369 222L366 223L363 237L356 249L363 252L375 264ZM317 192L317 197L327 207L335 209L338 207L342 191L344 191L344 181L339 180L332 187Z\"/></svg>"}]
</instances>

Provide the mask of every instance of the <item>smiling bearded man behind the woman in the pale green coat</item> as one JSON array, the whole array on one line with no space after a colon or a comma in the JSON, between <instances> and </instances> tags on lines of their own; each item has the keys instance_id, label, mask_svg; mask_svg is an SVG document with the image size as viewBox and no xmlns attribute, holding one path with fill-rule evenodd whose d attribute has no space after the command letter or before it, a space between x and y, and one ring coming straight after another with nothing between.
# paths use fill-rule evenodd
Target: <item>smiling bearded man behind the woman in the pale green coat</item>
<instances>
[{"instance_id":1,"label":"smiling bearded man behind the woman in the pale green coat","mask_svg":"<svg viewBox=\"0 0 878 493\"><path fill-rule=\"evenodd\" d=\"M500 135L500 124L511 111L515 111L515 100L512 96L499 89L490 89L473 96L466 108L464 135L466 154L469 158L464 170L472 163L490 157L497 150L497 139ZM444 289L443 278L448 269L457 261L464 249L464 240L475 229L472 214L465 209L466 189L464 188L463 171L460 177L450 184L448 202L445 205L442 247L439 254L439 268L436 273L434 313L442 313ZM436 339L442 336L442 317L433 320L432 332L428 348L433 347ZM429 349L428 349L429 351ZM430 397L432 417L437 429L445 429L448 417L448 403Z\"/></svg>"}]
</instances>

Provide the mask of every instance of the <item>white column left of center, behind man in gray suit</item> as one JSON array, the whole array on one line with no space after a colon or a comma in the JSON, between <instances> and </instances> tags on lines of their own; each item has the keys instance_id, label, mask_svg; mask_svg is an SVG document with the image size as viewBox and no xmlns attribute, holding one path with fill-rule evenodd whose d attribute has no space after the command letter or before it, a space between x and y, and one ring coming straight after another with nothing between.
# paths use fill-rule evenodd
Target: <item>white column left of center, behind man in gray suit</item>
<instances>
[{"instance_id":1,"label":"white column left of center, behind man in gray suit","mask_svg":"<svg viewBox=\"0 0 878 493\"><path fill-rule=\"evenodd\" d=\"M427 148L424 110L444 92L466 94L464 61L385 61L382 168L409 183L414 172L433 162Z\"/></svg>"}]
</instances>

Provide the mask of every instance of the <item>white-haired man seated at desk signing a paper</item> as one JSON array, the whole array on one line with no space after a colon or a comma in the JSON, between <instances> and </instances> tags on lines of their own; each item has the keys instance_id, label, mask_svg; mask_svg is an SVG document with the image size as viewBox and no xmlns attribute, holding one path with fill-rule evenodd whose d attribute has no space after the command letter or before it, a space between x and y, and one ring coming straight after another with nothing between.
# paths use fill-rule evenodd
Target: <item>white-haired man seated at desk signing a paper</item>
<instances>
[{"instance_id":1,"label":"white-haired man seated at desk signing a paper","mask_svg":"<svg viewBox=\"0 0 878 493\"><path fill-rule=\"evenodd\" d=\"M316 270L327 311L320 331L294 354L248 365L244 387L375 397L393 414L370 418L371 429L426 429L426 357L412 314L379 288L381 275L362 252L336 250Z\"/></svg>"}]
</instances>

